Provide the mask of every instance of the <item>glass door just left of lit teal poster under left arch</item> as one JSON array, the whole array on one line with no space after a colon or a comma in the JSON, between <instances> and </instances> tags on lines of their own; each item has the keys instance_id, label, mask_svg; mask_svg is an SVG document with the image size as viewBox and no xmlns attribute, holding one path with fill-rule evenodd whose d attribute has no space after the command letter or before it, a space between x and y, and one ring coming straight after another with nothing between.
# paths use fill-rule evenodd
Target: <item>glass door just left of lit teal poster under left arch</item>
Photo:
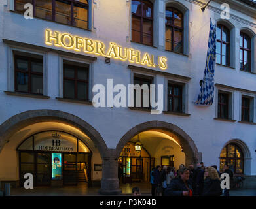
<instances>
[{"instance_id":1,"label":"glass door just left of lit teal poster under left arch","mask_svg":"<svg viewBox=\"0 0 256 209\"><path fill-rule=\"evenodd\" d=\"M50 185L50 153L37 153L37 185Z\"/></svg>"}]
</instances>

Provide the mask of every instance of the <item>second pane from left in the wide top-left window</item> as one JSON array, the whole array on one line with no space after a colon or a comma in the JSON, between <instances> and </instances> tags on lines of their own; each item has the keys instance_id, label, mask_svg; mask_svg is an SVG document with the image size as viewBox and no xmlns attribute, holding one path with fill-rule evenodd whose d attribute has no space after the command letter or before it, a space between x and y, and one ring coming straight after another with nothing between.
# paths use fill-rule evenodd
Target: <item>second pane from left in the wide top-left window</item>
<instances>
[{"instance_id":1,"label":"second pane from left in the wide top-left window","mask_svg":"<svg viewBox=\"0 0 256 209\"><path fill-rule=\"evenodd\" d=\"M52 20L52 0L35 1L35 16Z\"/></svg>"}]
</instances>

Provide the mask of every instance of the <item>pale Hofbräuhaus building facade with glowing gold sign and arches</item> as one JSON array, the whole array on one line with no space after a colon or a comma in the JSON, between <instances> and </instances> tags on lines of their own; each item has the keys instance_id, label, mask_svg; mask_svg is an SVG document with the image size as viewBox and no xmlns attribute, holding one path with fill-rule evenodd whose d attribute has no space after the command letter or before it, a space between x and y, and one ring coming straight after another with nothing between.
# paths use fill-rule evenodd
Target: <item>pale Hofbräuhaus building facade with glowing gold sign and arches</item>
<instances>
[{"instance_id":1,"label":"pale Hofbr\u00e4uhaus building facade with glowing gold sign and arches","mask_svg":"<svg viewBox=\"0 0 256 209\"><path fill-rule=\"evenodd\" d=\"M204 161L229 163L255 187L255 3L215 0L202 11L206 3L1 1L0 181L22 186L29 172L35 185L88 182L114 194L121 182L149 182L156 165ZM210 18L215 98L194 105ZM143 97L146 108L133 106L136 99L126 105L129 84L156 84L144 91L156 92L162 113L152 114ZM102 86L106 97L98 98Z\"/></svg>"}]
</instances>

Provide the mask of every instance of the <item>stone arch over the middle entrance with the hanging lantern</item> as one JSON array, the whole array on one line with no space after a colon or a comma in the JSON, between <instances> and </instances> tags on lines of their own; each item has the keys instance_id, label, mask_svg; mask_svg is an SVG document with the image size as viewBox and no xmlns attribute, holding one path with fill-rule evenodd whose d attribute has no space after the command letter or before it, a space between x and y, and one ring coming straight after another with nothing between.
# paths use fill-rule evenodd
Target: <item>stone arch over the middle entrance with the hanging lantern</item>
<instances>
[{"instance_id":1,"label":"stone arch over the middle entrance with the hanging lantern","mask_svg":"<svg viewBox=\"0 0 256 209\"><path fill-rule=\"evenodd\" d=\"M120 153L122 152L122 148L124 148L125 144L130 140L130 138L134 137L138 133L142 131L148 131L150 129L160 129L163 131L167 131L169 133L173 133L177 137L177 142L180 144L181 148L183 149L185 156L186 156L186 165L189 164L196 164L199 160L199 153L198 149L196 148L196 144L192 140L185 131L180 129L174 124L166 123L164 121L148 121L145 123L141 123L136 125L128 132L124 134L124 136L120 139L119 144L116 147L116 157L119 157Z\"/></svg>"}]
</instances>

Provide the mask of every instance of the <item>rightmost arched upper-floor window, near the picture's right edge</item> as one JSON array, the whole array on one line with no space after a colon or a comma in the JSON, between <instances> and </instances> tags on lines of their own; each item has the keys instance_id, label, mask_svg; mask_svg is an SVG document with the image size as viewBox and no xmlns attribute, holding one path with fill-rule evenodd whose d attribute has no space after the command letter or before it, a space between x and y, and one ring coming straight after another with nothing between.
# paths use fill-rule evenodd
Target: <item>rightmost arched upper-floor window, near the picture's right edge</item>
<instances>
[{"instance_id":1,"label":"rightmost arched upper-floor window, near the picture's right edge","mask_svg":"<svg viewBox=\"0 0 256 209\"><path fill-rule=\"evenodd\" d=\"M240 33L240 70L251 72L251 38Z\"/></svg>"}]
</instances>

